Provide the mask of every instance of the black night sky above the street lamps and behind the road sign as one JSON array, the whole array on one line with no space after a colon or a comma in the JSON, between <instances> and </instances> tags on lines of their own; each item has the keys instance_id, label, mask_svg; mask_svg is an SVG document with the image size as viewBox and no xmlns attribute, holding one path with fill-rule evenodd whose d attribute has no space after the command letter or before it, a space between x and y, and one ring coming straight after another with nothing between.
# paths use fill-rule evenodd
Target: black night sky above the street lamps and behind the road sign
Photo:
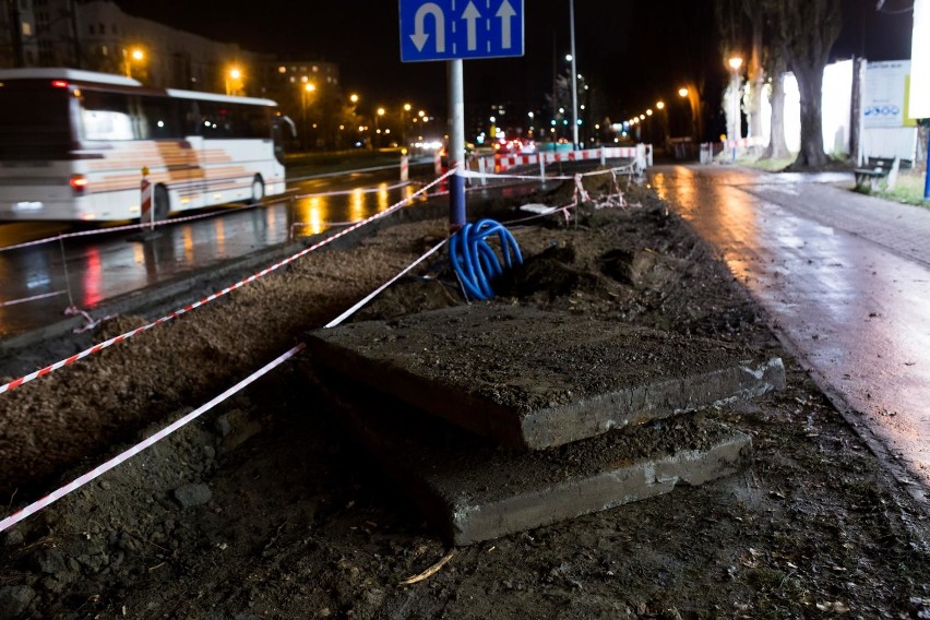
<instances>
[{"instance_id":1,"label":"black night sky above the street lamps and behind the road sign","mask_svg":"<svg viewBox=\"0 0 930 620\"><path fill-rule=\"evenodd\" d=\"M345 90L379 105L410 100L439 114L445 107L445 63L400 61L396 1L186 0L182 10L171 2L116 1L129 14L252 51L336 62ZM913 1L885 0L877 13L878 1L844 0L845 27L835 57L910 57L913 22L906 9ZM567 68L569 1L524 4L526 56L466 61L467 104L542 107L544 93L551 91L553 61L559 70ZM713 0L575 0L575 37L579 72L597 84L618 120L659 98L673 98L689 78L704 82L708 98L727 79Z\"/></svg>"}]
</instances>

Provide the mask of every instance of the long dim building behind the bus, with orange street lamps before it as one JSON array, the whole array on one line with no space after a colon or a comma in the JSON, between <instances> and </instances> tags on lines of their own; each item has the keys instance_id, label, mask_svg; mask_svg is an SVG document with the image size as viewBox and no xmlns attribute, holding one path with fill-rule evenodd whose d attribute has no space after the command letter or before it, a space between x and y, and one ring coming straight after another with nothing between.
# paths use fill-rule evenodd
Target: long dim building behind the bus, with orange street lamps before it
<instances>
[{"instance_id":1,"label":"long dim building behind the bus, with orange street lamps before it","mask_svg":"<svg viewBox=\"0 0 930 620\"><path fill-rule=\"evenodd\" d=\"M156 87L264 96L300 110L302 84L338 88L332 62L275 60L94 0L0 0L0 68L74 67Z\"/></svg>"}]
</instances>

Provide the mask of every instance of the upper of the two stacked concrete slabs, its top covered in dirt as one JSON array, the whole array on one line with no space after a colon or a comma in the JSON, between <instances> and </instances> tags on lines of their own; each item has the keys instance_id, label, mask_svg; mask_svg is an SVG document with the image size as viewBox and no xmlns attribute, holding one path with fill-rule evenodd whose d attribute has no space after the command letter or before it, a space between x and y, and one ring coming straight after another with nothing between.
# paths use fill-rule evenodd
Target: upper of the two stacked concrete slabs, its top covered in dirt
<instances>
[{"instance_id":1,"label":"upper of the two stacked concrete slabs, its top covered in dirt","mask_svg":"<svg viewBox=\"0 0 930 620\"><path fill-rule=\"evenodd\" d=\"M474 303L319 330L314 363L540 450L785 385L779 358L617 322Z\"/></svg>"}]
</instances>

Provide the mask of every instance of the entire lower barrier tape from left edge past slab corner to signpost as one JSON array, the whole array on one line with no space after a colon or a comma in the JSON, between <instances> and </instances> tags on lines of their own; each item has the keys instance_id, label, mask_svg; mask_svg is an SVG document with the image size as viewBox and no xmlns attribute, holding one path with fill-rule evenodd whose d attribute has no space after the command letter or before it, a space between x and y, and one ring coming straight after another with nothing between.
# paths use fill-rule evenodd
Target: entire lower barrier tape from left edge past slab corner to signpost
<instances>
[{"instance_id":1,"label":"entire lower barrier tape from left edge past slab corner to signpost","mask_svg":"<svg viewBox=\"0 0 930 620\"><path fill-rule=\"evenodd\" d=\"M368 303L368 301L370 301L373 297L381 294L385 288L388 288L393 283L395 283L397 279L403 277L405 274L407 274L416 265L420 264L427 258L429 258L430 255L436 253L440 248L442 248L442 246L445 245L446 241L448 241L448 239L443 239L441 242L439 242L438 245L432 247L428 252L426 252L424 255L421 255L416 261L414 261L408 266L406 266L404 270L402 270L397 275L395 275L393 278L391 278L388 283L385 283L384 285L382 285L381 287L379 287L378 289L372 291L370 295L366 296L361 301L359 301L358 303L356 303L355 306L349 308L347 311L345 311L342 314L339 314L338 317L336 317L334 320L326 323L325 326L327 329L334 327L334 326L338 325L339 323L342 323L343 321L345 321L348 317L350 317L351 314L357 312L362 306ZM202 416L206 412L211 410L213 407L215 407L219 403L226 401L227 398L229 398L234 394L240 392L242 389L245 389L249 384L253 383L254 381L257 381L261 377L267 374L269 372L271 372L272 370L274 370L275 368L281 366L282 363L284 363L285 361L291 359L294 356L296 356L298 353L300 353L303 348L305 348L303 343L297 345L296 347L291 348L287 353L278 356L277 358L275 358L271 362L266 363L265 366L263 366L262 368L260 368L259 370L257 370L255 372L253 372L252 374L250 374L246 379L239 381L236 385L229 388L228 390L226 390L225 392L223 392L218 396L214 397L213 400L211 400L205 405L202 405L201 407L199 407L195 410L191 412L190 414L183 416L182 418L178 419L177 421L168 425L167 427L159 430L158 432L156 432L156 433L152 434L151 437L144 439L143 441L136 443L135 445L133 445L129 450L121 452L117 456L114 456L109 461L100 464L99 466L87 472L86 474L75 478L71 482L56 489L55 491L45 496L44 498L26 505L22 510L19 510L15 513L11 514L10 516L3 518L2 521L0 521L0 532L3 532L4 529L12 527L13 525L20 523L21 521L23 521L24 518L26 518L28 516L32 516L33 514L37 513L38 511L40 511L45 508L48 508L50 504L60 500L64 496L76 491L78 489L80 489L81 487L86 485L87 482L91 482L94 479L100 477L102 475L109 472L110 469L112 469L117 465L120 465L121 463L124 463L126 461L132 458L133 456L135 456L136 454L139 454L140 452L145 450L146 448L151 448L152 445L154 445L158 441L165 439L166 437L168 437L169 434L171 434L176 430L187 426L188 424L190 424L194 419L199 418L200 416Z\"/></svg>"}]
</instances>

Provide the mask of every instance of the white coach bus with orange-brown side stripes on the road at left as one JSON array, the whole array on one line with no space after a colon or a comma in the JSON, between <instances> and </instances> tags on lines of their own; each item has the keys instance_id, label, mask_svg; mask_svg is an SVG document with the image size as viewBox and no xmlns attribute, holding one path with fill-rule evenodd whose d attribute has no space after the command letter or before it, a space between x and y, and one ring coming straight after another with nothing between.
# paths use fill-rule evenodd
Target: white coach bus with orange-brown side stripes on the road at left
<instances>
[{"instance_id":1,"label":"white coach bus with orange-brown side stripes on the road at left","mask_svg":"<svg viewBox=\"0 0 930 620\"><path fill-rule=\"evenodd\" d=\"M0 70L0 220L140 217L285 191L274 102L143 87L74 69Z\"/></svg>"}]
</instances>

